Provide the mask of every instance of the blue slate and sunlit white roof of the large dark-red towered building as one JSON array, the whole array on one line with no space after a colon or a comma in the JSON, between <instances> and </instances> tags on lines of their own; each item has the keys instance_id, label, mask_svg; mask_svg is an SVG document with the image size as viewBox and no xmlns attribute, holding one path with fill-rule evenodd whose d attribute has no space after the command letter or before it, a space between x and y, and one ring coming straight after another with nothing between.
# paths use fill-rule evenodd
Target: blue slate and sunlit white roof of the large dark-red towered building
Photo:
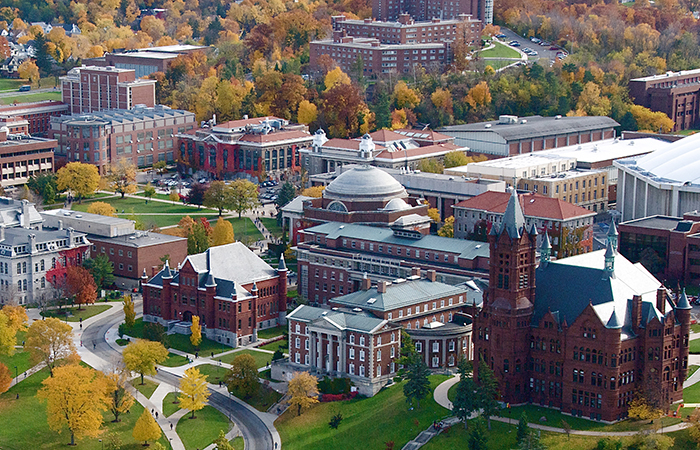
<instances>
[{"instance_id":1,"label":"blue slate and sunlit white roof of the large dark-red towered building","mask_svg":"<svg viewBox=\"0 0 700 450\"><path fill-rule=\"evenodd\" d=\"M642 297L642 317L645 325L654 317L663 321L656 308L656 290L661 286L654 276L639 263L633 264L615 254L615 277L604 270L604 250L570 256L537 268L534 323L548 311L559 314L560 323L571 326L591 304L601 322L608 324L612 313L629 329L630 307L634 295ZM667 301L666 311L673 305ZM615 325L612 321L611 325Z\"/></svg>"}]
</instances>

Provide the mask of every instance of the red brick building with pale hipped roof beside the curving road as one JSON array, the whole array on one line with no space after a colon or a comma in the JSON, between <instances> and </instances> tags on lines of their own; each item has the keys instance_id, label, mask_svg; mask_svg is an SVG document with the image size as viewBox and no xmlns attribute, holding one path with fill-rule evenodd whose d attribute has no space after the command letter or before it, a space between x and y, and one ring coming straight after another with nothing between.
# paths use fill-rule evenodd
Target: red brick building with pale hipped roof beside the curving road
<instances>
[{"instance_id":1,"label":"red brick building with pale hipped roof beside the curving road","mask_svg":"<svg viewBox=\"0 0 700 450\"><path fill-rule=\"evenodd\" d=\"M143 283L144 321L188 334L192 316L202 333L232 347L257 340L257 330L284 323L287 267L270 267L236 242L189 255Z\"/></svg>"}]
</instances>

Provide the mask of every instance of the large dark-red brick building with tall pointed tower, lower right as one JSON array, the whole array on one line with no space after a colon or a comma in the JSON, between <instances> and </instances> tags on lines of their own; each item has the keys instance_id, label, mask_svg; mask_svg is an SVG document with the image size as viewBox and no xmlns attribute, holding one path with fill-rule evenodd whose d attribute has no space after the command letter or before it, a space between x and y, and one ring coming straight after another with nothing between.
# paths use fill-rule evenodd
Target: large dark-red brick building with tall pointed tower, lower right
<instances>
[{"instance_id":1,"label":"large dark-red brick building with tall pointed tower, lower right","mask_svg":"<svg viewBox=\"0 0 700 450\"><path fill-rule=\"evenodd\" d=\"M485 361L511 404L613 422L637 392L661 407L682 400L690 304L640 264L607 249L550 261L525 225L517 197L489 234L490 285L474 318L475 358ZM477 366L478 367L478 366Z\"/></svg>"}]
</instances>

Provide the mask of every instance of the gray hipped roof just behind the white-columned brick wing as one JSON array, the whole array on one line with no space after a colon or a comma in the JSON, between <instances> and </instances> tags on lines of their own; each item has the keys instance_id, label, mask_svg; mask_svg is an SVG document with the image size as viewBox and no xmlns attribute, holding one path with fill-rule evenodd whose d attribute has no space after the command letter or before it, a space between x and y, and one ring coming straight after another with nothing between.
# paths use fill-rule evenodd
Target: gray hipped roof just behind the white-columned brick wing
<instances>
[{"instance_id":1,"label":"gray hipped roof just behind the white-columned brick wing","mask_svg":"<svg viewBox=\"0 0 700 450\"><path fill-rule=\"evenodd\" d=\"M398 284L392 283L387 286L384 293L379 293L377 288L374 287L366 291L360 290L336 297L331 299L330 302L370 311L391 311L450 295L464 295L466 297L466 293L467 290L461 286L450 286L449 284L421 279L404 281ZM456 298L455 303L457 303Z\"/></svg>"}]
</instances>

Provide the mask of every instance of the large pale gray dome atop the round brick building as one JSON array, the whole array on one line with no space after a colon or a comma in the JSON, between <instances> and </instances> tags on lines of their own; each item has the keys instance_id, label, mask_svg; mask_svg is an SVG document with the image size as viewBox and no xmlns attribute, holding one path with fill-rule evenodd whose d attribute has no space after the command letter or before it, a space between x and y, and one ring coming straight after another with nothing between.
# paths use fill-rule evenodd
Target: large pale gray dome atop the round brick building
<instances>
[{"instance_id":1,"label":"large pale gray dome atop the round brick building","mask_svg":"<svg viewBox=\"0 0 700 450\"><path fill-rule=\"evenodd\" d=\"M372 166L357 166L340 174L323 191L329 199L383 201L408 194L394 177Z\"/></svg>"}]
</instances>

